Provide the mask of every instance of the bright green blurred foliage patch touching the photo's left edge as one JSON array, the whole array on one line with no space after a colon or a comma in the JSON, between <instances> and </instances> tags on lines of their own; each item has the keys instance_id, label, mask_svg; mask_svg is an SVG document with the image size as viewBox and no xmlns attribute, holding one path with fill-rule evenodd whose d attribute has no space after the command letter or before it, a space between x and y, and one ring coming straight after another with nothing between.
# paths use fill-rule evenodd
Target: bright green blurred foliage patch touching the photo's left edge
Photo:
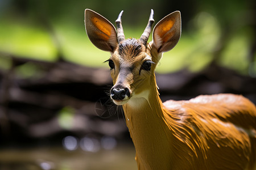
<instances>
[{"instance_id":1,"label":"bright green blurred foliage patch touching the photo's left edge","mask_svg":"<svg viewBox=\"0 0 256 170\"><path fill-rule=\"evenodd\" d=\"M57 50L49 33L30 23L0 21L0 50L28 58L54 61Z\"/></svg>"}]
</instances>

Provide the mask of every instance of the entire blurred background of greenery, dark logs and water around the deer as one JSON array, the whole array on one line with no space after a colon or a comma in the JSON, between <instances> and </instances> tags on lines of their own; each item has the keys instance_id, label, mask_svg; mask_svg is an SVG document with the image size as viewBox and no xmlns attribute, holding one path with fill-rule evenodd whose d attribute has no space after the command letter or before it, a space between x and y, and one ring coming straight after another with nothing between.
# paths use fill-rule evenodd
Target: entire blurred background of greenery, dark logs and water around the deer
<instances>
[{"instance_id":1,"label":"entire blurred background of greenery, dark logs and water around the deer","mask_svg":"<svg viewBox=\"0 0 256 170\"><path fill-rule=\"evenodd\" d=\"M137 39L151 8L155 23L181 11L181 39L156 69L162 100L231 92L256 103L256 1L0 0L0 169L136 169L85 8L113 24L124 10Z\"/></svg>"}]
</instances>

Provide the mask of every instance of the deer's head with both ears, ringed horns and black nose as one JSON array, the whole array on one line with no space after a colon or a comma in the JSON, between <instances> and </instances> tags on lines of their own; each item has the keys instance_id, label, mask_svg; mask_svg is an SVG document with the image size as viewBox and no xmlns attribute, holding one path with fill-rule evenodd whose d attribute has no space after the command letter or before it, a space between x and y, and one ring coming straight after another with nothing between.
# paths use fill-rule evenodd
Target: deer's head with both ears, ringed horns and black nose
<instances>
[{"instance_id":1,"label":"deer's head with both ears, ringed horns and black nose","mask_svg":"<svg viewBox=\"0 0 256 170\"><path fill-rule=\"evenodd\" d=\"M163 52L174 48L181 35L180 12L175 11L158 22L153 30L153 40L148 41L154 23L154 11L151 10L148 24L140 39L125 39L121 16L112 23L96 12L85 10L85 29L92 43L99 49L111 53L107 60L114 86L110 97L117 105L123 105L132 99L148 99L150 89L155 84L154 70Z\"/></svg>"}]
</instances>

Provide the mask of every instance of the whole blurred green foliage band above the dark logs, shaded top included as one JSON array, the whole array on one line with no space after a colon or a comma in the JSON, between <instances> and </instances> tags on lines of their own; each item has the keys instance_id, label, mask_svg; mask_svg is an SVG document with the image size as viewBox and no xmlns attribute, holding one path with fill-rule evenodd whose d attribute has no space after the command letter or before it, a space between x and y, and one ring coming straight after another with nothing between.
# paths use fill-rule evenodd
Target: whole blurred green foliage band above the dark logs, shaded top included
<instances>
[{"instance_id":1,"label":"whole blurred green foliage band above the dark logs, shaded top included","mask_svg":"<svg viewBox=\"0 0 256 170\"><path fill-rule=\"evenodd\" d=\"M26 3L22 3L26 2ZM9 1L0 12L0 52L20 57L67 61L102 67L108 52L98 50L89 41L84 28L84 10L92 8L114 24L121 10L126 38L141 36L150 8L155 22L174 10L180 10L183 33L180 42L163 55L157 71L180 69L200 71L210 62L247 74L251 50L250 5L246 1ZM249 31L248 31L249 30ZM150 37L150 40L152 38ZM217 53L217 51L219 53ZM255 56L255 55L254 55ZM0 56L1 57L1 56ZM254 57L255 58L255 57Z\"/></svg>"}]
</instances>

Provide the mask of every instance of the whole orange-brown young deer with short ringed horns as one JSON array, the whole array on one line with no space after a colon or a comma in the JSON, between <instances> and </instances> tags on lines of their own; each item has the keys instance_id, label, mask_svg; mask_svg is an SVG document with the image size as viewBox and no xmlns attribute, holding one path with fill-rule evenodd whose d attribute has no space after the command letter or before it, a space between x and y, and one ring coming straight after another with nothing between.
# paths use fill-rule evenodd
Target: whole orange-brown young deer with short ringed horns
<instances>
[{"instance_id":1,"label":"whole orange-brown young deer with short ringed horns","mask_svg":"<svg viewBox=\"0 0 256 170\"><path fill-rule=\"evenodd\" d=\"M122 11L123 12L123 11ZM240 95L203 95L188 101L159 98L154 70L163 52L180 39L180 12L154 23L153 11L140 39L125 39L121 15L112 23L85 10L92 43L111 53L114 86L110 97L122 105L136 150L138 169L253 169L256 108Z\"/></svg>"}]
</instances>

